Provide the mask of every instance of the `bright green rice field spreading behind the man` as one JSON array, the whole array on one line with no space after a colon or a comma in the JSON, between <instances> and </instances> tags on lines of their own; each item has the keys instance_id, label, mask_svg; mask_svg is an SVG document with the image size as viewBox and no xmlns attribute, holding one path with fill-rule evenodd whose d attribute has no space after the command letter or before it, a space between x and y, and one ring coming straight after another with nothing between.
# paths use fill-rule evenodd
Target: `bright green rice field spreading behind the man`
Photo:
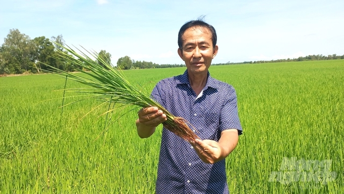
<instances>
[{"instance_id":1,"label":"bright green rice field spreading behind the man","mask_svg":"<svg viewBox=\"0 0 344 194\"><path fill-rule=\"evenodd\" d=\"M151 91L184 71L124 73ZM209 71L236 89L244 130L226 159L231 193L344 193L344 60ZM62 110L64 85L51 74L0 77L0 193L154 193L161 126L141 139L138 109L120 117L133 107L83 117L100 103L89 99Z\"/></svg>"}]
</instances>

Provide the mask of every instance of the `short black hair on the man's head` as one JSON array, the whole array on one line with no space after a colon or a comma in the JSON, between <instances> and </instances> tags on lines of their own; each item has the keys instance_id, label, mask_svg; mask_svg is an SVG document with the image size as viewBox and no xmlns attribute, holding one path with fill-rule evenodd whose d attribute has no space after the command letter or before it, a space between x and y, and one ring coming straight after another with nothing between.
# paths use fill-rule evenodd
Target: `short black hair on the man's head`
<instances>
[{"instance_id":1,"label":"short black hair on the man's head","mask_svg":"<svg viewBox=\"0 0 344 194\"><path fill-rule=\"evenodd\" d=\"M208 23L204 22L203 18L204 17L200 17L197 20L188 21L181 27L181 29L179 30L179 33L178 33L178 46L181 50L183 50L182 49L182 47L183 47L182 36L183 36L184 32L191 27L207 28L211 33L212 47L215 48L216 42L218 40L218 36L216 35L216 30L214 27L212 27L212 25L209 25Z\"/></svg>"}]
</instances>

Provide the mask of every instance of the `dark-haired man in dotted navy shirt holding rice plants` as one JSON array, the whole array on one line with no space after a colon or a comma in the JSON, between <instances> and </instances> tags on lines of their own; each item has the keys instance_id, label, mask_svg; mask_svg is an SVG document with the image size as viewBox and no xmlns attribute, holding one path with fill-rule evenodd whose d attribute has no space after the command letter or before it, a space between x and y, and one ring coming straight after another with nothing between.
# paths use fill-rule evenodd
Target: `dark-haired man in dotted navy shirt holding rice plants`
<instances>
[{"instance_id":1,"label":"dark-haired man in dotted navy shirt holding rice plants","mask_svg":"<svg viewBox=\"0 0 344 194\"><path fill-rule=\"evenodd\" d=\"M229 193L225 159L241 134L232 86L213 79L208 68L218 53L215 29L201 21L185 23L178 35L182 75L160 81L152 97L176 117L192 124L201 139L187 142L163 129L156 193ZM143 108L136 121L141 138L166 121L157 107Z\"/></svg>"}]
</instances>

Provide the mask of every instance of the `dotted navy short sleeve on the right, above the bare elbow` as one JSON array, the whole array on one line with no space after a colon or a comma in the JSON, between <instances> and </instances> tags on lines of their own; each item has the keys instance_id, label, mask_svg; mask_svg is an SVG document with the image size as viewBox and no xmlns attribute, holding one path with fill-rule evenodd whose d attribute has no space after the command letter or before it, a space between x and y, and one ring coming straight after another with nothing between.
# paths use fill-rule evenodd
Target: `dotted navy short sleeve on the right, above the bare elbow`
<instances>
[{"instance_id":1,"label":"dotted navy short sleeve on the right, above the bare elbow","mask_svg":"<svg viewBox=\"0 0 344 194\"><path fill-rule=\"evenodd\" d=\"M239 120L237 108L237 96L233 87L227 90L224 104L220 115L220 130L237 129L238 134L242 134L242 127Z\"/></svg>"}]
</instances>

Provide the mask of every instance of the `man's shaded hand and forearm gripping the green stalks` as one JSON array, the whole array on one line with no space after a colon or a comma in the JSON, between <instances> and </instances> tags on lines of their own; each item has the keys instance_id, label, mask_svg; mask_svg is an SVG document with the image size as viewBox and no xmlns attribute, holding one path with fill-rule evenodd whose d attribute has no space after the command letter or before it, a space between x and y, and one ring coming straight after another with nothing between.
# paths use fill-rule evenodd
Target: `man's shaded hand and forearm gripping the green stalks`
<instances>
[{"instance_id":1,"label":"man's shaded hand and forearm gripping the green stalks","mask_svg":"<svg viewBox=\"0 0 344 194\"><path fill-rule=\"evenodd\" d=\"M141 138L150 137L154 133L155 127L167 120L166 114L154 106L142 108L138 115L136 127Z\"/></svg>"}]
</instances>

